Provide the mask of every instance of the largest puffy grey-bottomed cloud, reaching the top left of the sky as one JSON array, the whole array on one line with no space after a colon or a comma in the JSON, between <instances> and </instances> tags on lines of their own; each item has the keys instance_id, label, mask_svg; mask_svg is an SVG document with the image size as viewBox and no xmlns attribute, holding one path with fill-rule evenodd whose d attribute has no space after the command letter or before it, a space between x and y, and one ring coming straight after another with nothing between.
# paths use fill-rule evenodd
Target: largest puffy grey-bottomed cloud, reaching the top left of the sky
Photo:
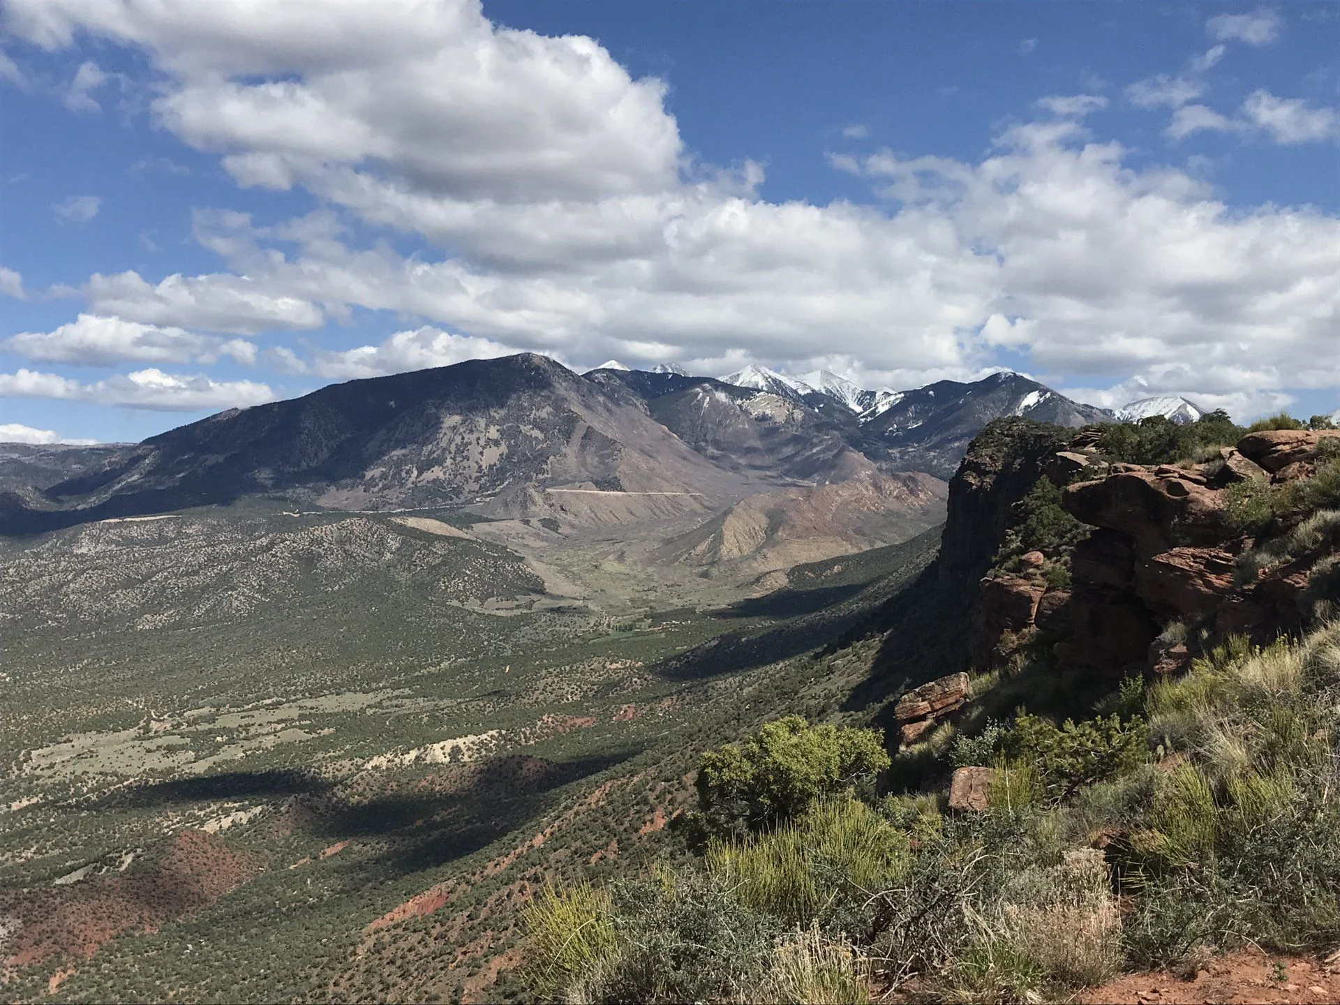
<instances>
[{"instance_id":1,"label":"largest puffy grey-bottomed cloud, reaching the top left of the sky","mask_svg":"<svg viewBox=\"0 0 1340 1005\"><path fill-rule=\"evenodd\" d=\"M7 7L39 44L83 28L149 50L170 75L159 119L225 154L244 185L378 165L426 192L591 198L659 190L678 169L661 80L632 80L588 38L494 27L478 0L271 4L263 17L226 0Z\"/></svg>"}]
</instances>

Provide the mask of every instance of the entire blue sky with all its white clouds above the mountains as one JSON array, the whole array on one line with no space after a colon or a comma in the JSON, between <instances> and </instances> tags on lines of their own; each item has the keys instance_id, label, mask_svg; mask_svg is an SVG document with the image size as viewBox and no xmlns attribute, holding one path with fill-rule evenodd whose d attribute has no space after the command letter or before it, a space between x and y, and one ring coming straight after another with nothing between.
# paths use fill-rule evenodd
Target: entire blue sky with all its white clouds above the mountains
<instances>
[{"instance_id":1,"label":"entire blue sky with all its white clouds above the mountains","mask_svg":"<svg viewBox=\"0 0 1340 1005\"><path fill-rule=\"evenodd\" d=\"M0 0L0 440L520 351L1331 413L1337 54L1305 0Z\"/></svg>"}]
</instances>

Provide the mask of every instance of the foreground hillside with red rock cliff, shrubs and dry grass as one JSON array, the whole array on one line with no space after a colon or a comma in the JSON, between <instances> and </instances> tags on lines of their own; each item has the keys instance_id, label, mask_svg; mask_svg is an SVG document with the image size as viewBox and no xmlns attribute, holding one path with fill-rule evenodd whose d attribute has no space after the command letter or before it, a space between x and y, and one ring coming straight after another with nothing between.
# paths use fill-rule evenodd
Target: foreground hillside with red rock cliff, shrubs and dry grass
<instances>
[{"instance_id":1,"label":"foreground hillside with red rock cliff, shrubs and dry grass","mask_svg":"<svg viewBox=\"0 0 1340 1005\"><path fill-rule=\"evenodd\" d=\"M1021 1002L1245 946L1323 972L1340 437L1171 425L989 427L922 580L976 594L966 671L886 699L888 758L863 728L884 706L852 701L836 729L789 718L705 753L687 840L650 878L535 904L532 989Z\"/></svg>"}]
</instances>

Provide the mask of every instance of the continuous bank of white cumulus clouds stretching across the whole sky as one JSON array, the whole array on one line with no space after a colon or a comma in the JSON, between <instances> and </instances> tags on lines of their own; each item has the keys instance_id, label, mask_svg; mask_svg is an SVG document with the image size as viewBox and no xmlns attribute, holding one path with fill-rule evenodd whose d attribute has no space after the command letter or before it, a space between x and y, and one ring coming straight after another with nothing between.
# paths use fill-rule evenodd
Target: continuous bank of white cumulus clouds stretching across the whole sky
<instances>
[{"instance_id":1,"label":"continuous bank of white cumulus clouds stretching across the whole sky","mask_svg":"<svg viewBox=\"0 0 1340 1005\"><path fill-rule=\"evenodd\" d=\"M904 386L980 374L1001 348L1097 389L1181 381L1191 363L1203 377L1181 389L1205 395L1337 379L1336 218L1229 212L1185 172L1093 141L1077 119L1096 95L1044 99L1052 118L1006 130L980 161L832 157L884 206L773 204L756 165L686 155L659 80L591 39L494 27L470 0L265 17L237 0L7 9L50 48L80 29L141 47L162 74L158 122L243 185L303 186L331 208L275 226L201 214L196 237L229 272L98 275L83 289L94 314L249 335L370 308L457 332L272 356L288 368L385 373L482 351L461 342L476 339L592 363L776 363L823 346ZM1174 109L1183 135L1223 127L1189 80L1128 96ZM429 249L368 247L352 222Z\"/></svg>"}]
</instances>

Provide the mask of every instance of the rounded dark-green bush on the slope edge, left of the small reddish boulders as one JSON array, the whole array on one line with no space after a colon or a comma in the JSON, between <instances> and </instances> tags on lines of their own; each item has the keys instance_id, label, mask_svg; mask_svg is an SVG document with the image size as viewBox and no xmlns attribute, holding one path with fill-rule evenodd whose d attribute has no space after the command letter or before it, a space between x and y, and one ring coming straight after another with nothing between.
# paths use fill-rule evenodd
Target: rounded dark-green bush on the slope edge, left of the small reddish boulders
<instances>
[{"instance_id":1,"label":"rounded dark-green bush on the slope edge, left of the small reddish boulders","mask_svg":"<svg viewBox=\"0 0 1340 1005\"><path fill-rule=\"evenodd\" d=\"M758 829L799 816L888 765L879 730L811 728L787 716L742 744L706 750L698 762L698 804L709 828L737 835L741 827Z\"/></svg>"}]
</instances>

